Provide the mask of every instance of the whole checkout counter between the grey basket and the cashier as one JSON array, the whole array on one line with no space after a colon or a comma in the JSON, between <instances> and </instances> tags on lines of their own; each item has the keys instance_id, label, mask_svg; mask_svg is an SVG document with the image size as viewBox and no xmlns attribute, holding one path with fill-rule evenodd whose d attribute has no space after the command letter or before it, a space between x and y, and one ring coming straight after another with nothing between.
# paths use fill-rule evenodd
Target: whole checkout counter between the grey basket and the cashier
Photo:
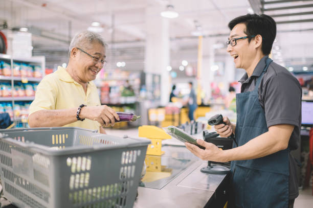
<instances>
[{"instance_id":1,"label":"whole checkout counter between the grey basket and the cashier","mask_svg":"<svg viewBox=\"0 0 313 208\"><path fill-rule=\"evenodd\" d=\"M226 207L229 174L200 172L208 163L175 138L164 141L162 150L161 156L146 155L149 164L133 207Z\"/></svg>"}]
</instances>

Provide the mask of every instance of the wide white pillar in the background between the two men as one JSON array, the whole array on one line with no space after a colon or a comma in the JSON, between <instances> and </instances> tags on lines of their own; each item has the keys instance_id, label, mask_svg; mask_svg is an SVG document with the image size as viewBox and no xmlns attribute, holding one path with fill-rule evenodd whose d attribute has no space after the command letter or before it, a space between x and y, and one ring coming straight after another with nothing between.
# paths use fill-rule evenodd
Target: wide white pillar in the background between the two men
<instances>
[{"instance_id":1,"label":"wide white pillar in the background between the two men","mask_svg":"<svg viewBox=\"0 0 313 208\"><path fill-rule=\"evenodd\" d=\"M170 65L169 19L161 17L163 7L150 6L146 9L145 72L161 75L161 105L168 103L170 77L166 67ZM150 77L146 77L147 89Z\"/></svg>"}]
</instances>

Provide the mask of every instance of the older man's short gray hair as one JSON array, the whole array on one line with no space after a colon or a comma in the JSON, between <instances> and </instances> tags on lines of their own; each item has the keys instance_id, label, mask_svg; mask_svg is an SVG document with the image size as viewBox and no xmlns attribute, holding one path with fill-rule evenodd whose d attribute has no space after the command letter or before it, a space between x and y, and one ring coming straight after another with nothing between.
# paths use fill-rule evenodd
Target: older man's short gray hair
<instances>
[{"instance_id":1,"label":"older man's short gray hair","mask_svg":"<svg viewBox=\"0 0 313 208\"><path fill-rule=\"evenodd\" d=\"M101 35L94 33L94 32L87 31L87 30L76 33L76 35L73 37L70 43L69 57L71 56L71 51L73 48L76 47L76 48L81 48L83 50L89 49L90 44L93 43L94 41L99 42L106 49L107 44L105 43Z\"/></svg>"}]
</instances>

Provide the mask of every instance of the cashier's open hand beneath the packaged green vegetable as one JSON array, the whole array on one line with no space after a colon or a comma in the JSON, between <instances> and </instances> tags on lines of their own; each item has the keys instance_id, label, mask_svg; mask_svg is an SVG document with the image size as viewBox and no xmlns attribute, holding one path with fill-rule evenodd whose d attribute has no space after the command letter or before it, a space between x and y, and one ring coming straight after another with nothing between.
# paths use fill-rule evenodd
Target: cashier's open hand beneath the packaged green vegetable
<instances>
[{"instance_id":1,"label":"cashier's open hand beneath the packaged green vegetable","mask_svg":"<svg viewBox=\"0 0 313 208\"><path fill-rule=\"evenodd\" d=\"M185 142L185 146L190 152L192 152L195 156L199 157L200 159L221 162L221 163L227 162L223 160L223 157L222 157L223 150L219 149L214 144L205 142L203 140L197 140L197 143L205 147L206 149L205 150L200 149L196 145L193 145L187 142Z\"/></svg>"}]
</instances>

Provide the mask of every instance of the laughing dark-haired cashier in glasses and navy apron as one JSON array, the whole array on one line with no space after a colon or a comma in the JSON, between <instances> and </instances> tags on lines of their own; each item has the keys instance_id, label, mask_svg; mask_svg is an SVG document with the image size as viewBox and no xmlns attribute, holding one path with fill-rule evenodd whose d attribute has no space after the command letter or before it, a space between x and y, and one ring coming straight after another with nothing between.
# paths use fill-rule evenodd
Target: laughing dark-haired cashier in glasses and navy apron
<instances>
[{"instance_id":1,"label":"laughing dark-haired cashier in glasses and navy apron","mask_svg":"<svg viewBox=\"0 0 313 208\"><path fill-rule=\"evenodd\" d=\"M197 140L186 147L210 161L231 161L229 207L287 208L298 196L296 162L290 150L299 146L302 90L298 80L269 58L276 36L270 16L247 14L229 23L227 51L246 74L236 95L237 122L216 125L222 137L235 134L238 147L220 150Z\"/></svg>"}]
</instances>

